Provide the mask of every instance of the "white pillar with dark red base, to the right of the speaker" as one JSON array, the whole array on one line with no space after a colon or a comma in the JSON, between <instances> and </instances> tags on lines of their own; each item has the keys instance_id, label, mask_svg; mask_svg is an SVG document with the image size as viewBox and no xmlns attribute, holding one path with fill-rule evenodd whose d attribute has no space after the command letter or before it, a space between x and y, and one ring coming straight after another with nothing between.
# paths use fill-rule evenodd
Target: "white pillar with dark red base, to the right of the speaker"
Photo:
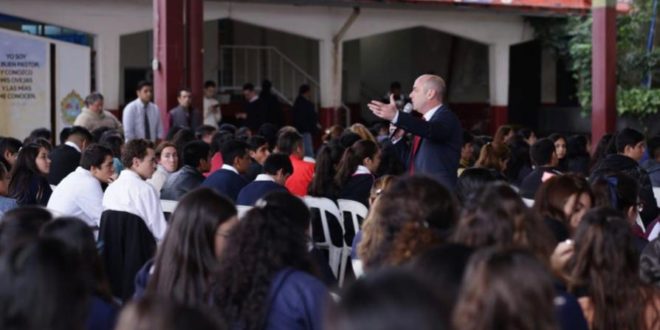
<instances>
[{"instance_id":1,"label":"white pillar with dark red base, to the right of the speaker","mask_svg":"<svg viewBox=\"0 0 660 330\"><path fill-rule=\"evenodd\" d=\"M509 120L509 49L510 46L504 43L488 47L492 133Z\"/></svg>"}]
</instances>

